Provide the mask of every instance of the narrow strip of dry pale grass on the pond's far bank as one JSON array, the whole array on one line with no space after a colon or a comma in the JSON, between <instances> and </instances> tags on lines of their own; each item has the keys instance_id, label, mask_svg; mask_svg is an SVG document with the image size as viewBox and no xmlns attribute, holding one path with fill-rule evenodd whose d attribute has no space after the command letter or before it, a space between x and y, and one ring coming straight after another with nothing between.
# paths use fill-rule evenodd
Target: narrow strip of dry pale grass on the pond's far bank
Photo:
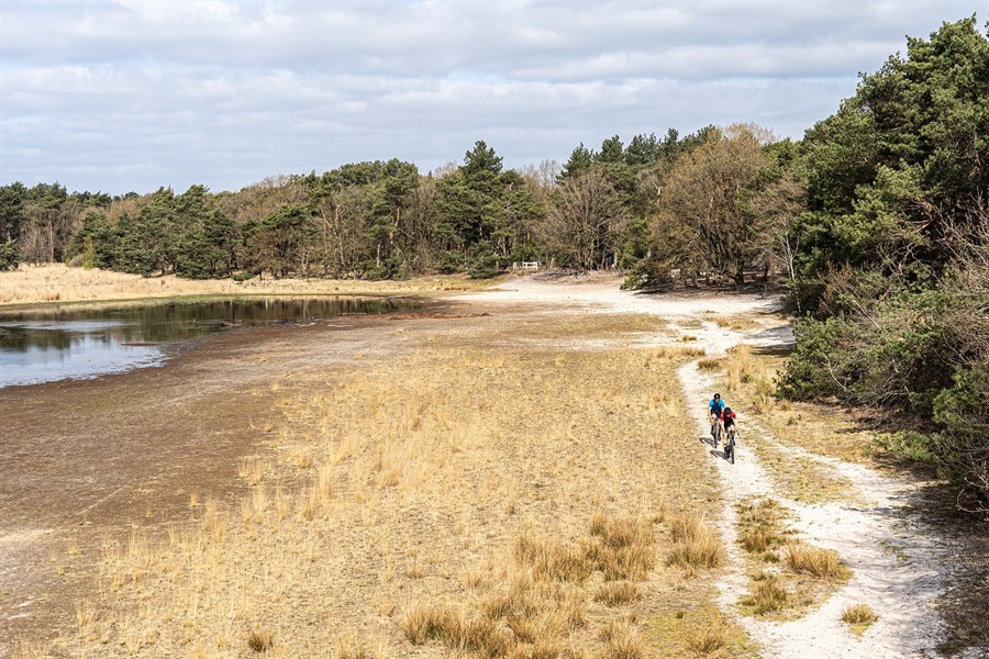
<instances>
[{"instance_id":1,"label":"narrow strip of dry pale grass on the pond's far bank","mask_svg":"<svg viewBox=\"0 0 989 659\"><path fill-rule=\"evenodd\" d=\"M0 304L137 300L178 295L268 294L389 294L465 291L490 286L459 276L434 276L409 281L358 281L330 279L230 279L192 280L174 275L141 277L110 270L85 270L62 264L21 266L0 272Z\"/></svg>"}]
</instances>

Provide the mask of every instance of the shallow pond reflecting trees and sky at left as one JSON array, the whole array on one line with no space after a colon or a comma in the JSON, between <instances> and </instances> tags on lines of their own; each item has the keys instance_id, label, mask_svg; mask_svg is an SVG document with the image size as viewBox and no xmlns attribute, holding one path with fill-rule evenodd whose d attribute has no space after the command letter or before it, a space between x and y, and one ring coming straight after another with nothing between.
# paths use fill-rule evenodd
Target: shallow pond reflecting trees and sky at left
<instances>
[{"instance_id":1,"label":"shallow pond reflecting trees and sky at left","mask_svg":"<svg viewBox=\"0 0 989 659\"><path fill-rule=\"evenodd\" d=\"M0 315L0 388L160 366L178 342L235 327L380 314L405 301L368 298L211 299Z\"/></svg>"}]
</instances>

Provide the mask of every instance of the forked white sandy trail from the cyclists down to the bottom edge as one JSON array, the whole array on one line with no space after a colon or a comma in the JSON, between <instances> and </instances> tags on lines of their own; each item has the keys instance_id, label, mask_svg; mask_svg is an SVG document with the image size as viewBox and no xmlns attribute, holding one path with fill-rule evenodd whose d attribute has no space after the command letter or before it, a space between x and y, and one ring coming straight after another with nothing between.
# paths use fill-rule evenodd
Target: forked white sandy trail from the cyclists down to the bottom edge
<instances>
[{"instance_id":1,"label":"forked white sandy trail from the cyclists down to the bottom edge","mask_svg":"<svg viewBox=\"0 0 989 659\"><path fill-rule=\"evenodd\" d=\"M713 390L710 378L691 362L679 371L688 400L704 400ZM699 433L709 438L703 409L698 409ZM755 431L744 416L740 423ZM909 505L914 490L871 469L821 458L803 449L785 446L759 428L763 440L789 454L794 460L813 460L824 469L833 468L854 483L849 499L838 503L808 504L781 494L758 458L737 448L734 465L721 460L719 471L725 483L722 535L727 540L731 565L722 580L721 602L731 607L746 593L747 578L742 551L736 543L734 504L745 498L771 496L789 509L790 526L810 543L834 549L854 571L851 581L823 605L786 623L743 618L743 625L757 639L767 656L804 657L935 657L943 639L943 624L935 608L944 590L938 566L947 559L947 548L933 538L933 532L905 518L900 511ZM705 453L714 454L708 444ZM841 622L845 605L865 603L880 618L862 638L853 636Z\"/></svg>"}]
</instances>

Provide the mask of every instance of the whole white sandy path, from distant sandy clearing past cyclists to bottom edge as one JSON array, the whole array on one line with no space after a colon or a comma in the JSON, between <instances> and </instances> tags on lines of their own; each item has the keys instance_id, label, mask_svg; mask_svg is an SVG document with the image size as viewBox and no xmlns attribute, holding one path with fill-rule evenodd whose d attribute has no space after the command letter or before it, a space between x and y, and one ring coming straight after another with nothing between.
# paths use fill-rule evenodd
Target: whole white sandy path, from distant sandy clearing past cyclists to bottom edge
<instances>
[{"instance_id":1,"label":"whole white sandy path, from distant sandy clearing past cyclists to bottom edge","mask_svg":"<svg viewBox=\"0 0 989 659\"><path fill-rule=\"evenodd\" d=\"M723 354L741 340L778 344L790 339L786 327L769 320L766 326L746 334L724 330L710 322L711 313L768 313L778 301L756 295L711 297L644 295L618 290L618 280L596 279L560 283L526 278L465 299L489 302L537 302L559 304L575 312L651 313L671 323L689 326L709 354ZM776 326L774 326L774 324ZM823 605L803 617L786 622L763 622L741 616L741 622L759 643L763 652L774 658L837 657L933 657L944 638L944 625L936 611L936 600L944 592L938 566L948 559L947 547L934 532L915 518L900 514L910 505L915 488L905 481L884 476L873 469L810 454L780 443L765 428L740 418L744 429L758 432L763 442L773 444L793 459L813 460L822 469L833 469L855 488L847 501L807 504L781 494L756 455L740 445L738 459L730 465L710 446L704 403L713 391L712 378L702 375L697 362L679 371L688 401L697 401L698 457L716 459L724 481L725 498L721 533L729 548L729 569L720 583L721 604L731 611L747 590L742 550L736 543L734 503L747 496L771 496L792 513L790 525L808 541L835 549L854 571L847 584ZM880 614L880 619L860 637L852 635L841 622L847 604L866 603Z\"/></svg>"}]
</instances>

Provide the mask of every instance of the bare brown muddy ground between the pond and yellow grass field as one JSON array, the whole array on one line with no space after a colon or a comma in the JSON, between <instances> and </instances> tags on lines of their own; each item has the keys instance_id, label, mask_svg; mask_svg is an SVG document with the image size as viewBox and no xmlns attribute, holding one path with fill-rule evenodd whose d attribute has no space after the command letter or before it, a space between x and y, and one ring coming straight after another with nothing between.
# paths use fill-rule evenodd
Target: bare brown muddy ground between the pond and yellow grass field
<instances>
[{"instance_id":1,"label":"bare brown muddy ground between the pond and yellow grass field","mask_svg":"<svg viewBox=\"0 0 989 659\"><path fill-rule=\"evenodd\" d=\"M103 538L245 490L237 459L268 439L273 378L390 349L389 328L365 316L256 327L198 339L164 367L0 390L0 635L67 632ZM69 544L79 559L64 567Z\"/></svg>"}]
</instances>

